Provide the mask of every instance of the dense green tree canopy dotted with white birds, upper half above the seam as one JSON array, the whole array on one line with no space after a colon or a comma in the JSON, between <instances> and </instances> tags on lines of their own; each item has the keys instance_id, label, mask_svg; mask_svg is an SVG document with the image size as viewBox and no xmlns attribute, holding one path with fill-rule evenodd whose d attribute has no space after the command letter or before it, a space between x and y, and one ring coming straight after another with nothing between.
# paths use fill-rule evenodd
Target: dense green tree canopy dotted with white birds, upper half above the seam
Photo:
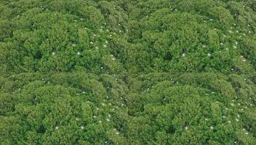
<instances>
[{"instance_id":1,"label":"dense green tree canopy dotted with white birds, upper half above the seam","mask_svg":"<svg viewBox=\"0 0 256 145\"><path fill-rule=\"evenodd\" d=\"M1 0L2 72L256 70L255 0Z\"/></svg>"}]
</instances>

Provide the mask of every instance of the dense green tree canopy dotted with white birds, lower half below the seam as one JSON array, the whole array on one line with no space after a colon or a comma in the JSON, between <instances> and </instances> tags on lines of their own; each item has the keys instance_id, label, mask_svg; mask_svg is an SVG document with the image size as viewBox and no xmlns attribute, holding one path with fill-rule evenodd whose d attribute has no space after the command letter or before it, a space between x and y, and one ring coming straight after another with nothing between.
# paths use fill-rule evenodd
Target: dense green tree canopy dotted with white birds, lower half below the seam
<instances>
[{"instance_id":1,"label":"dense green tree canopy dotted with white birds, lower half below the seam","mask_svg":"<svg viewBox=\"0 0 256 145\"><path fill-rule=\"evenodd\" d=\"M23 73L0 79L2 145L255 145L255 75Z\"/></svg>"}]
</instances>

